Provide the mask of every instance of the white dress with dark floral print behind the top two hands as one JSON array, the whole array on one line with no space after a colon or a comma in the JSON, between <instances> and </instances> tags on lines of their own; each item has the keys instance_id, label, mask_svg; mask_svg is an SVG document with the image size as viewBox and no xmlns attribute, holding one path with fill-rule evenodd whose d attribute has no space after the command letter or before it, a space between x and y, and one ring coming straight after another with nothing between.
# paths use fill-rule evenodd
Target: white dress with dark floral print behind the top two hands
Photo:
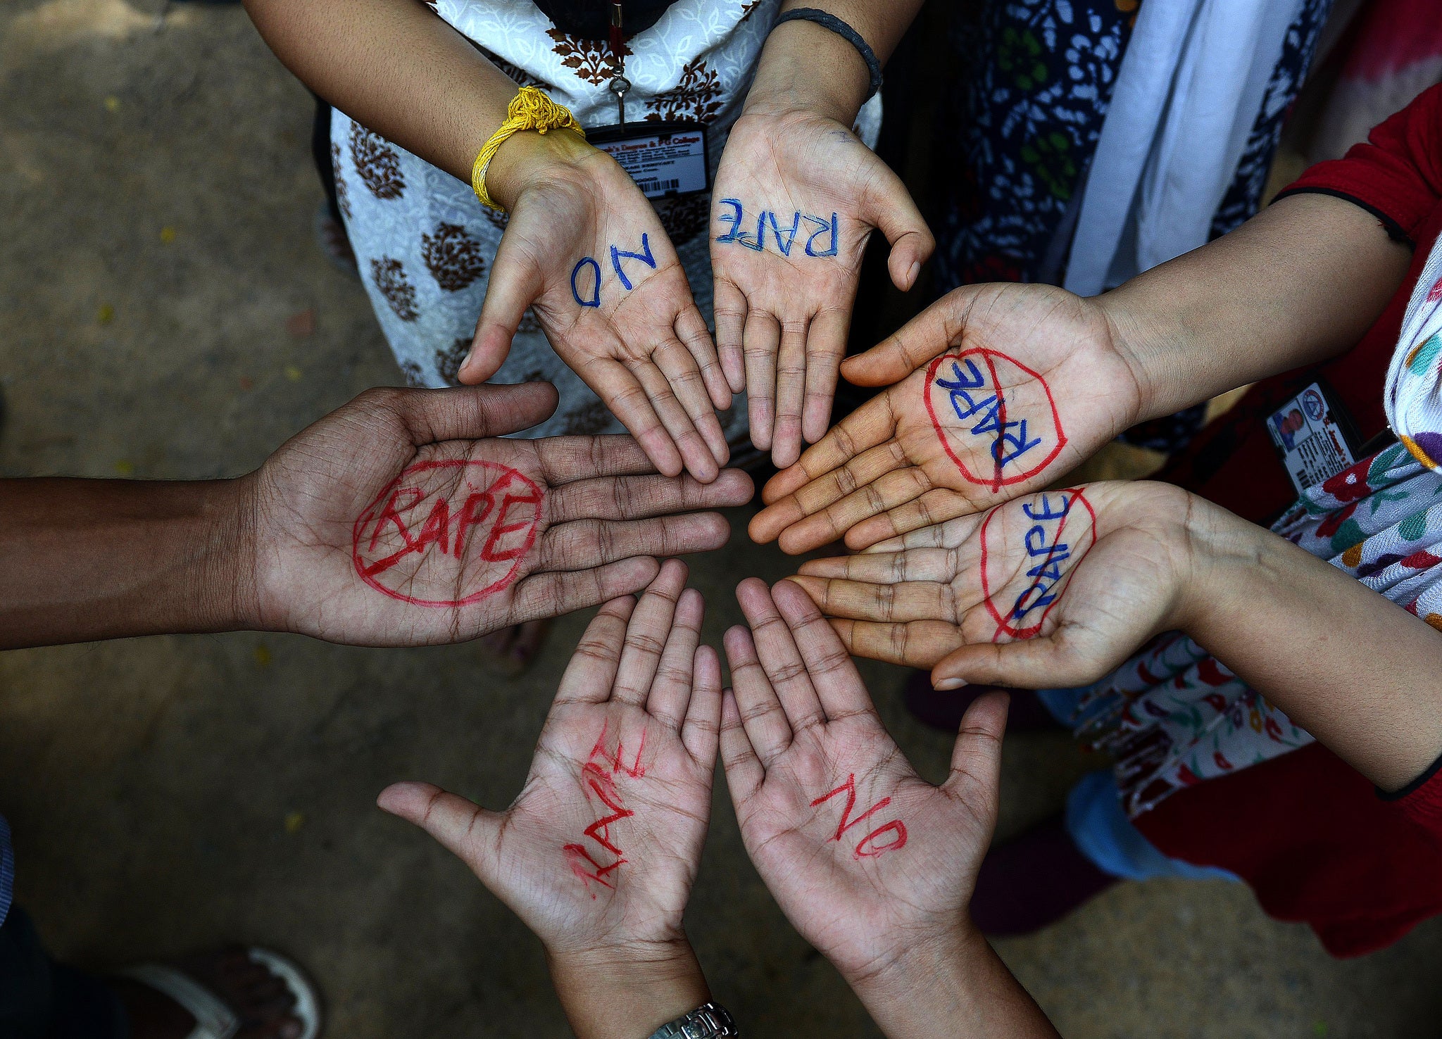
<instances>
[{"instance_id":1,"label":"white dress with dark floral print behind the top two hands","mask_svg":"<svg viewBox=\"0 0 1442 1039\"><path fill-rule=\"evenodd\" d=\"M581 125L616 121L604 40L568 36L531 0L437 0L435 13L479 45L518 85L539 86ZM630 121L699 121L715 176L731 124L741 114L780 0L678 0L627 40ZM881 98L857 120L867 144L881 125ZM336 193L350 245L381 329L412 386L456 385L486 298L506 215L482 206L470 184L336 112L330 124ZM701 313L712 307L707 226L709 195L656 200ZM562 362L531 311L496 382L548 380L557 414L526 437L622 432L610 409ZM722 416L727 438L747 437L746 406Z\"/></svg>"}]
</instances>

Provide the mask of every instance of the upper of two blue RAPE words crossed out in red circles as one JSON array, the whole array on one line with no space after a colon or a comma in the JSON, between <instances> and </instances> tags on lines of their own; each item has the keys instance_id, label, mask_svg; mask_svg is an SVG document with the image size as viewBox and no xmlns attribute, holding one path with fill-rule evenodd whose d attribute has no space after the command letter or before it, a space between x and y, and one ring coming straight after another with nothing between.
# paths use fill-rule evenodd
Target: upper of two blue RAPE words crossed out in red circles
<instances>
[{"instance_id":1,"label":"upper of two blue RAPE words crossed out in red circles","mask_svg":"<svg viewBox=\"0 0 1442 1039\"><path fill-rule=\"evenodd\" d=\"M1067 442L1047 380L999 350L937 357L921 393L962 477L994 491L1037 476Z\"/></svg>"}]
</instances>

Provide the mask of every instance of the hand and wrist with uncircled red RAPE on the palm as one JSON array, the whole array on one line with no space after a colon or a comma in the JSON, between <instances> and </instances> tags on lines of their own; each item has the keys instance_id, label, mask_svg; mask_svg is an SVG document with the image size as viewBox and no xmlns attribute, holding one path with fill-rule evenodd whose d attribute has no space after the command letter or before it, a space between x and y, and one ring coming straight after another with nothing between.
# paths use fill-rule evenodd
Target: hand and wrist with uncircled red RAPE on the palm
<instances>
[{"instance_id":1,"label":"hand and wrist with uncircled red RAPE on the palm","mask_svg":"<svg viewBox=\"0 0 1442 1039\"><path fill-rule=\"evenodd\" d=\"M633 980L639 1009L610 1022L620 1035L649 1035L707 1000L681 918L711 811L721 666L698 646L704 604L685 584L686 568L669 561L639 604L601 608L509 808L487 811L425 782L379 798L460 856L541 938L583 1036L600 1033L587 1000L614 999Z\"/></svg>"}]
</instances>

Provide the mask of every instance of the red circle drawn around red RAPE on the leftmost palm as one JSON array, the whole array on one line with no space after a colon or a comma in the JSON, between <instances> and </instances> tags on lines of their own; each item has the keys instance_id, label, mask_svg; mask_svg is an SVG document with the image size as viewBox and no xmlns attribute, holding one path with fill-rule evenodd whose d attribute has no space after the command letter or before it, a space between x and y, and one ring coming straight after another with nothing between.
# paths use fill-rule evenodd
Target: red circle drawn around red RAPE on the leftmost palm
<instances>
[{"instance_id":1,"label":"red circle drawn around red RAPE on the leftmost palm","mask_svg":"<svg viewBox=\"0 0 1442 1039\"><path fill-rule=\"evenodd\" d=\"M463 470L460 478L446 497L425 494L420 487L405 487L404 484L421 473L435 470ZM467 477L482 476L479 481ZM398 499L407 491L414 491L415 497L410 503L399 503ZM430 513L407 522L405 513L411 513L423 501L431 499ZM456 499L460 499L459 501ZM389 595L392 599L408 602L415 607L464 607L479 602L487 595L495 595L509 587L521 572L521 563L531 546L535 545L536 527L541 523L541 503L545 493L532 480L509 465L493 461L467 461L457 458L453 461L423 461L401 471L395 480L386 484L376 499L365 507L356 517L350 535L350 558L355 563L356 575L378 592ZM451 509L454 503L456 509ZM519 506L519 507L518 507ZM480 509L477 514L477 509ZM519 516L519 519L515 519ZM451 519L454 517L454 519ZM389 552L381 558L369 558L379 543L382 527L392 527L394 535L399 535L404 548ZM395 572L397 563L418 555L423 559L440 552L450 555L451 529L454 523L454 552L456 566L479 558L482 563L502 563L510 561L510 566L499 576L472 592L466 592L454 599L427 599L408 595L398 588L389 588L382 582L382 575ZM412 530L414 527L414 530ZM472 527L479 527L473 532ZM369 540L368 546L362 546ZM502 548L502 542L509 548ZM479 546L479 549L476 549ZM493 566L477 568L477 576L485 578L495 574ZM399 574L412 578L414 569Z\"/></svg>"}]
</instances>

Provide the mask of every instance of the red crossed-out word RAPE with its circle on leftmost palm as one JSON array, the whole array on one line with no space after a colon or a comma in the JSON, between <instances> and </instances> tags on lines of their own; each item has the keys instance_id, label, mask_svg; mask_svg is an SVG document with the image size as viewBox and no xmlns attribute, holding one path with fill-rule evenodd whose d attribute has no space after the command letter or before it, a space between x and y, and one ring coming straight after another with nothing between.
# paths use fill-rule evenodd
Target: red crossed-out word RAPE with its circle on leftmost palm
<instances>
[{"instance_id":1,"label":"red crossed-out word RAPE with its circle on leftmost palm","mask_svg":"<svg viewBox=\"0 0 1442 1039\"><path fill-rule=\"evenodd\" d=\"M411 605L477 602L519 575L544 497L499 463L418 463L356 517L352 562L368 585Z\"/></svg>"}]
</instances>

